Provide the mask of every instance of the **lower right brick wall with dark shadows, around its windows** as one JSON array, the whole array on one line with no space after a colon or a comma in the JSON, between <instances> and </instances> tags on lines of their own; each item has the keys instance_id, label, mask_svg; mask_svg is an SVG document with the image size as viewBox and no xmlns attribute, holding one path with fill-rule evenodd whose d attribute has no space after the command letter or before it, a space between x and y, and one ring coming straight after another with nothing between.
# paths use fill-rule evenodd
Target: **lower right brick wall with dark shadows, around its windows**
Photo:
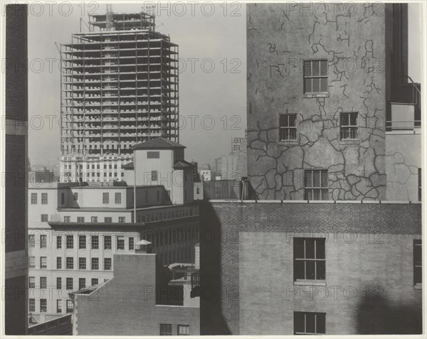
<instances>
[{"instance_id":1,"label":"lower right brick wall with dark shadows, around its windows","mask_svg":"<svg viewBox=\"0 0 427 339\"><path fill-rule=\"evenodd\" d=\"M412 244L421 204L204 202L201 216L201 334L292 334L293 312L313 310L327 312L327 334L419 333ZM292 237L325 233L325 283L342 287L339 299L286 300L295 287ZM342 298L346 286L357 299ZM381 300L365 300L378 286Z\"/></svg>"}]
</instances>

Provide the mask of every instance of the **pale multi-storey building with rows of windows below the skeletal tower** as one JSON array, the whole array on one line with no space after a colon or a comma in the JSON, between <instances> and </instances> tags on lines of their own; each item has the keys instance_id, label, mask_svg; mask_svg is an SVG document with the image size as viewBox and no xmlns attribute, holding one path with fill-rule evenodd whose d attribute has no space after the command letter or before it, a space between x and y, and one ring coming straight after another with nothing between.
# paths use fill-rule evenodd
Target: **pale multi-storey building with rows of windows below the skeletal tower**
<instances>
[{"instance_id":1,"label":"pale multi-storey building with rows of windows below the skeletal tower","mask_svg":"<svg viewBox=\"0 0 427 339\"><path fill-rule=\"evenodd\" d=\"M199 206L192 196L192 166L184 161L184 146L154 140L135 146L136 173L130 178L144 185L51 183L28 188L31 321L41 323L72 312L68 294L112 279L114 254L134 254L141 240L151 243L150 251L161 265L194 263ZM169 149L156 148L163 143ZM147 152L157 158L144 161ZM174 163L166 161L171 152L176 154ZM127 171L133 172L130 166ZM186 171L189 180L183 183ZM145 173L149 181L144 181ZM175 173L181 180L160 183L162 173Z\"/></svg>"}]
</instances>

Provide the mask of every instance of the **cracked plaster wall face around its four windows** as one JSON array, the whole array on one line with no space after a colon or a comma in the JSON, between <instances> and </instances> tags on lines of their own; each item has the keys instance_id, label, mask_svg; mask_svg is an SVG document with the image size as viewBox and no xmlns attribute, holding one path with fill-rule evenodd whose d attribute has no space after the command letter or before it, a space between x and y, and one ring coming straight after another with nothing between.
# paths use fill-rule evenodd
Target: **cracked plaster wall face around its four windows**
<instances>
[{"instance_id":1,"label":"cracked plaster wall face around its four windows","mask_svg":"<svg viewBox=\"0 0 427 339\"><path fill-rule=\"evenodd\" d=\"M246 15L248 177L258 198L301 200L304 170L317 168L329 171L330 199L384 200L384 7L248 4ZM304 95L307 59L328 60L327 94ZM358 112L357 141L339 140L340 112ZM297 141L279 141L286 113L297 114Z\"/></svg>"}]
</instances>

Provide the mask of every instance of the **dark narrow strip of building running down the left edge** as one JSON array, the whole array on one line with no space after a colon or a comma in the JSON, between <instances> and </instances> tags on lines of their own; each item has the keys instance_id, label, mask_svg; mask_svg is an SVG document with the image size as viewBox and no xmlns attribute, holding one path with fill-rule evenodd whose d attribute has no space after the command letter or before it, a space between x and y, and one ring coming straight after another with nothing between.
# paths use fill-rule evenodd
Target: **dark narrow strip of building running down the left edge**
<instances>
[{"instance_id":1,"label":"dark narrow strip of building running down the left edge","mask_svg":"<svg viewBox=\"0 0 427 339\"><path fill-rule=\"evenodd\" d=\"M27 333L27 6L6 5L5 330Z\"/></svg>"}]
</instances>

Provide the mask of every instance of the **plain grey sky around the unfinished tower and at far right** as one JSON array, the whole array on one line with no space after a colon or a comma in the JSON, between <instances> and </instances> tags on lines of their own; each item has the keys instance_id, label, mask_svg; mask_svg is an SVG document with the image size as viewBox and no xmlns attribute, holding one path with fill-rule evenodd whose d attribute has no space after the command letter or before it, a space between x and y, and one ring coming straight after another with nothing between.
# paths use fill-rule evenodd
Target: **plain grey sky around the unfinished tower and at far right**
<instances>
[{"instance_id":1,"label":"plain grey sky around the unfinished tower and at far right","mask_svg":"<svg viewBox=\"0 0 427 339\"><path fill-rule=\"evenodd\" d=\"M48 168L59 163L60 155L56 43L70 43L71 34L80 31L80 18L88 22L88 14L104 14L106 9L105 4L96 2L60 4L33 4L28 16L28 156L31 164ZM149 4L112 4L112 11L153 11ZM214 158L231 150L233 136L245 135L246 8L237 3L214 7L202 2L181 4L154 8L156 26L179 45L180 143L186 146L186 160L212 165ZM422 50L418 6L409 6L409 55L414 60L409 64L409 75L416 82L421 80ZM85 23L82 27L88 31Z\"/></svg>"}]
</instances>

